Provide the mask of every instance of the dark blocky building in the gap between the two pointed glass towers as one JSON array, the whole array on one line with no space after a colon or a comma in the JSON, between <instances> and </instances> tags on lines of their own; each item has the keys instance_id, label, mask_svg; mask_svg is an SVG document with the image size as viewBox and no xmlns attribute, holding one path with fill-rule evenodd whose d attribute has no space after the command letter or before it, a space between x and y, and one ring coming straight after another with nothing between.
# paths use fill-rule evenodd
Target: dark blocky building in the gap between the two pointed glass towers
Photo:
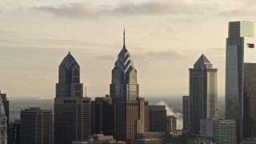
<instances>
[{"instance_id":1,"label":"dark blocky building in the gap between the two pointed glass towers","mask_svg":"<svg viewBox=\"0 0 256 144\"><path fill-rule=\"evenodd\" d=\"M96 97L94 102L94 134L114 134L114 106L112 98Z\"/></svg>"}]
</instances>

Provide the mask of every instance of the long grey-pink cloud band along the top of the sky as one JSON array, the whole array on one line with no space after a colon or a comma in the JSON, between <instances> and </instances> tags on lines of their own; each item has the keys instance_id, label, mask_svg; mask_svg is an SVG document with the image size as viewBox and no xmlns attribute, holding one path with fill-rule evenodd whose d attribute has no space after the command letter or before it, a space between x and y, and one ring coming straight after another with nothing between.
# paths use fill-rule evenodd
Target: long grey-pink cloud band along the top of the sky
<instances>
[{"instance_id":1,"label":"long grey-pink cloud band along the top of the sky","mask_svg":"<svg viewBox=\"0 0 256 144\"><path fill-rule=\"evenodd\" d=\"M67 3L59 6L34 6L31 10L48 12L66 18L95 18L100 15L164 15L164 14L194 14L202 13L198 4L189 4L183 1L157 1L148 2L119 2L115 6L97 6L92 2Z\"/></svg>"}]
</instances>

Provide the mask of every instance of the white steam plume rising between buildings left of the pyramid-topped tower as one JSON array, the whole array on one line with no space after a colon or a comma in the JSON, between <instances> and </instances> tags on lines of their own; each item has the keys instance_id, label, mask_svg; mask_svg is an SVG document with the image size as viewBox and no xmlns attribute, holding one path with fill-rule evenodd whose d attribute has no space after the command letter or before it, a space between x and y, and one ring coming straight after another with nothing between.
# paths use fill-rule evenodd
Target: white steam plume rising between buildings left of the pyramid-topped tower
<instances>
[{"instance_id":1,"label":"white steam plume rising between buildings left of the pyramid-topped tower","mask_svg":"<svg viewBox=\"0 0 256 144\"><path fill-rule=\"evenodd\" d=\"M166 106L166 114L167 115L174 115L177 118L176 127L178 130L182 130L183 127L183 117L180 113L175 113L173 108L170 108L170 106L166 102L158 102L156 104L157 106Z\"/></svg>"}]
</instances>

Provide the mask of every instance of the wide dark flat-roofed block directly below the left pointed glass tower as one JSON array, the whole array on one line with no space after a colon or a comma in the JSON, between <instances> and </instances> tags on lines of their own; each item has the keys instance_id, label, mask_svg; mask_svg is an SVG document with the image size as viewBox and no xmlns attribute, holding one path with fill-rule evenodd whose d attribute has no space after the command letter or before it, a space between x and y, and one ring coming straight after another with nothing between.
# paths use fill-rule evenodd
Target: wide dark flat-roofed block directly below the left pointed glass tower
<instances>
[{"instance_id":1,"label":"wide dark flat-roofed block directly below the left pointed glass tower","mask_svg":"<svg viewBox=\"0 0 256 144\"><path fill-rule=\"evenodd\" d=\"M88 140L90 127L90 98L54 99L54 144Z\"/></svg>"}]
</instances>

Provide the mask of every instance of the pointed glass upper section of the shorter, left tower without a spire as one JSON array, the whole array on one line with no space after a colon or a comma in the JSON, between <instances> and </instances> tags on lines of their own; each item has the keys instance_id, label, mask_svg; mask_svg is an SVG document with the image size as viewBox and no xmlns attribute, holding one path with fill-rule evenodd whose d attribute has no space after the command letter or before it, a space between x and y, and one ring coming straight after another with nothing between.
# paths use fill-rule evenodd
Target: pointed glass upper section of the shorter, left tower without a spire
<instances>
[{"instance_id":1,"label":"pointed glass upper section of the shorter, left tower without a spire","mask_svg":"<svg viewBox=\"0 0 256 144\"><path fill-rule=\"evenodd\" d=\"M56 98L58 97L82 97L80 66L70 54L70 51L58 66Z\"/></svg>"}]
</instances>

